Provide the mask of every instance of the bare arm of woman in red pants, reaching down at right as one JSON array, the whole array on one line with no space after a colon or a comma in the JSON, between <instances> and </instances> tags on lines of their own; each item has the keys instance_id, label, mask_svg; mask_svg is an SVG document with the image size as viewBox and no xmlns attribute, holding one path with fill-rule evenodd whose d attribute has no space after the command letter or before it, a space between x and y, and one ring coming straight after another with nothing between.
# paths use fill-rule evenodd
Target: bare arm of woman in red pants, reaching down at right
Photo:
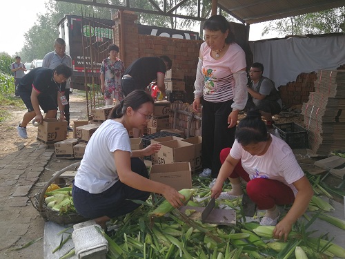
<instances>
[{"instance_id":1,"label":"bare arm of woman in red pants, reaching down at right","mask_svg":"<svg viewBox=\"0 0 345 259\"><path fill-rule=\"evenodd\" d=\"M294 182L293 185L298 190L295 202L293 202L293 206L288 211L283 220L279 222L273 230L273 236L275 238L284 238L285 241L288 239L288 233L290 233L293 224L306 211L308 204L314 194L311 183L308 181L306 176L303 176L302 178Z\"/></svg>"}]
</instances>

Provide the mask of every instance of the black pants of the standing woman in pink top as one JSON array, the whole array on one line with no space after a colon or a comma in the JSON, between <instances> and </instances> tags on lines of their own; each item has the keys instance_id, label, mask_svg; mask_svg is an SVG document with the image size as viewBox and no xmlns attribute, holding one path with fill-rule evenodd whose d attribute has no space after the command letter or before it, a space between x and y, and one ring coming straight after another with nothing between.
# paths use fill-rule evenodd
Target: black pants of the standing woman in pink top
<instances>
[{"instance_id":1,"label":"black pants of the standing woman in pink top","mask_svg":"<svg viewBox=\"0 0 345 259\"><path fill-rule=\"evenodd\" d=\"M233 111L233 100L227 102L204 101L202 108L202 166L212 170L212 178L217 178L221 162L220 151L233 146L235 130L228 128L228 115Z\"/></svg>"}]
</instances>

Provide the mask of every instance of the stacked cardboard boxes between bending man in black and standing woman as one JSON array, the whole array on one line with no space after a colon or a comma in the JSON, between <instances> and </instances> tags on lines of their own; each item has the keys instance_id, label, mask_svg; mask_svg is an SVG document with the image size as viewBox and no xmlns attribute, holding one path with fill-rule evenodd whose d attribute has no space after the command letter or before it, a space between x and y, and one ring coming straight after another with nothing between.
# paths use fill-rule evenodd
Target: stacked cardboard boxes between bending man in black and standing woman
<instances>
[{"instance_id":1,"label":"stacked cardboard boxes between bending man in black and standing woman","mask_svg":"<svg viewBox=\"0 0 345 259\"><path fill-rule=\"evenodd\" d=\"M169 102L185 102L186 84L184 83L183 70L171 68L168 71L166 71L164 85L166 87L166 97Z\"/></svg>"}]
</instances>

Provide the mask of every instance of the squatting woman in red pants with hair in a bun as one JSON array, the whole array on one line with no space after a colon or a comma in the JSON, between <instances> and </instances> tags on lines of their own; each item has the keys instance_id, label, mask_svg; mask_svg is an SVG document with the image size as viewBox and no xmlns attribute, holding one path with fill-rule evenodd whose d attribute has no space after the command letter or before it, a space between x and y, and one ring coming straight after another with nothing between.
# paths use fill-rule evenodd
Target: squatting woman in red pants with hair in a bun
<instances>
[{"instance_id":1,"label":"squatting woman in red pants with hair in a bun","mask_svg":"<svg viewBox=\"0 0 345 259\"><path fill-rule=\"evenodd\" d=\"M313 188L288 144L268 133L259 111L252 110L239 122L233 147L222 150L220 159L223 164L211 196L232 199L243 195L240 178L244 179L250 200L258 209L266 209L260 224L276 225L274 237L287 240L313 196ZM222 193L226 178L233 189ZM292 207L278 223L277 205L283 204Z\"/></svg>"}]
</instances>

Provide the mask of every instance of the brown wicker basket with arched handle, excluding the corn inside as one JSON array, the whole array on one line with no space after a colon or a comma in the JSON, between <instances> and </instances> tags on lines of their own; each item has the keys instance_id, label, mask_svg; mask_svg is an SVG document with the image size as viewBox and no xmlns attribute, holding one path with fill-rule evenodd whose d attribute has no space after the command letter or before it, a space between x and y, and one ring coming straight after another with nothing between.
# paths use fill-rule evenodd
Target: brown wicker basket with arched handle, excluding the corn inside
<instances>
[{"instance_id":1,"label":"brown wicker basket with arched handle, excluding the corn inside","mask_svg":"<svg viewBox=\"0 0 345 259\"><path fill-rule=\"evenodd\" d=\"M46 193L48 187L50 184L52 184L56 178L59 177L62 173L66 171L70 171L70 169L75 169L77 166L79 166L80 162L77 162L75 164L71 164L70 166L67 166L66 168L62 169L61 171L58 171L55 173L55 175L52 177L52 179L49 180L49 182L46 183L46 185L39 191L39 193L36 193L34 195L34 201L32 202L33 206L39 213L41 214L42 218L44 220L50 220L52 222L56 222L58 224L76 224L79 222L86 221L88 219L83 218L78 213L68 213L59 215L59 211L54 211L52 209L49 209L46 205L46 202L44 202L44 194Z\"/></svg>"}]
</instances>

